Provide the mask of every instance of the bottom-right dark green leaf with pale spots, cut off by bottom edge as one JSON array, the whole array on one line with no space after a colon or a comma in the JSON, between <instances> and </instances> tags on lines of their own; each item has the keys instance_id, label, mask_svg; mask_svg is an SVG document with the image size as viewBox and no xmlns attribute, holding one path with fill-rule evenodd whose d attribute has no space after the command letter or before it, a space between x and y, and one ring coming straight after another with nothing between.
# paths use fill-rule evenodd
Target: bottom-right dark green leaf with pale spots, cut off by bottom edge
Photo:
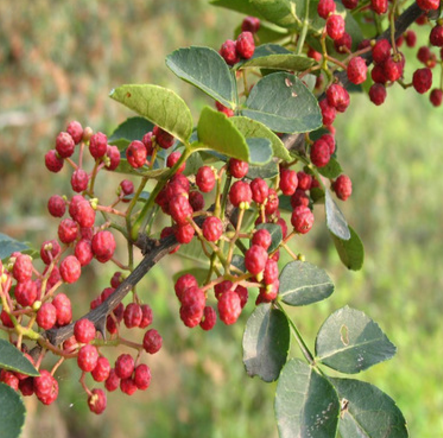
<instances>
[{"instance_id":1,"label":"bottom-right dark green leaf with pale spots, cut off by bottom edge","mask_svg":"<svg viewBox=\"0 0 443 438\"><path fill-rule=\"evenodd\" d=\"M406 420L387 394L361 380L330 379L341 399L343 438L407 438Z\"/></svg>"}]
</instances>

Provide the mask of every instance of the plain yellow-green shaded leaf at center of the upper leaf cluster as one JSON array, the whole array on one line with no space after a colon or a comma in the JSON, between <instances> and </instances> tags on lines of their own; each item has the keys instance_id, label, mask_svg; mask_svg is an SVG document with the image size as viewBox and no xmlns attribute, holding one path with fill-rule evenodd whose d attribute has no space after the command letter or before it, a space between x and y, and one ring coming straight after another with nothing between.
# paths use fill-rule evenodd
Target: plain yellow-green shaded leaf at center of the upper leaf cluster
<instances>
[{"instance_id":1,"label":"plain yellow-green shaded leaf at center of the upper leaf cluster","mask_svg":"<svg viewBox=\"0 0 443 438\"><path fill-rule=\"evenodd\" d=\"M246 139L225 114L205 107L197 125L200 142L205 146L238 160L250 161Z\"/></svg>"}]
</instances>

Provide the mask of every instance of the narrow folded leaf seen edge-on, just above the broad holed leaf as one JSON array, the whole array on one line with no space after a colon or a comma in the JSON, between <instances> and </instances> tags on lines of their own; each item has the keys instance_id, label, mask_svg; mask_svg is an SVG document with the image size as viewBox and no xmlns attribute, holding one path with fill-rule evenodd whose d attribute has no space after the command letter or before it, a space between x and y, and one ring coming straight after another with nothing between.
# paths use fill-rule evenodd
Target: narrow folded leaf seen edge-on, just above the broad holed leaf
<instances>
[{"instance_id":1,"label":"narrow folded leaf seen edge-on, just above the broad holed leaf","mask_svg":"<svg viewBox=\"0 0 443 438\"><path fill-rule=\"evenodd\" d=\"M270 70L304 71L312 67L315 61L305 55L293 52L278 44L264 44L255 49L254 55L236 65L237 69L259 67Z\"/></svg>"}]
</instances>

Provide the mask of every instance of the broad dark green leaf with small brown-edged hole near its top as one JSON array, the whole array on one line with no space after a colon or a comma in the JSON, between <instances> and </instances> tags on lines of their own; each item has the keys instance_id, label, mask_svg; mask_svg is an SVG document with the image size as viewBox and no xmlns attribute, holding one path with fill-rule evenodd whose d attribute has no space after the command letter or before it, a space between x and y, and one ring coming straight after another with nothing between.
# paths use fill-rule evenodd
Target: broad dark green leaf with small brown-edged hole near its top
<instances>
[{"instance_id":1,"label":"broad dark green leaf with small brown-edged hole near its top","mask_svg":"<svg viewBox=\"0 0 443 438\"><path fill-rule=\"evenodd\" d=\"M310 132L322 125L317 99L294 75L286 72L265 76L251 91L244 116L276 132Z\"/></svg>"}]
</instances>

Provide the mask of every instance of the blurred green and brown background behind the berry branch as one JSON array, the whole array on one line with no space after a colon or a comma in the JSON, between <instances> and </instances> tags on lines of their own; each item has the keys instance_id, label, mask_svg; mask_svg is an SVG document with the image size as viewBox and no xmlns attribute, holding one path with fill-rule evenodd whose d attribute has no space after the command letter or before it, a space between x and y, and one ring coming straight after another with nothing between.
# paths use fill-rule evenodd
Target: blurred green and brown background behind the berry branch
<instances>
[{"instance_id":1,"label":"blurred green and brown background behind the berry branch","mask_svg":"<svg viewBox=\"0 0 443 438\"><path fill-rule=\"evenodd\" d=\"M241 19L206 0L0 2L0 231L37 246L56 235L46 202L53 193L69 193L69 178L66 169L46 172L43 156L70 120L110 133L131 115L108 98L113 87L170 87L195 115L212 105L176 79L164 58L191 44L218 48ZM411 49L405 53L414 57ZM394 86L381 108L355 96L335 126L339 158L354 187L343 210L364 241L365 266L353 273L340 264L321 208L313 232L297 242L297 251L325 267L337 286L326 302L293 311L302 333L312 345L324 319L344 304L374 318L398 354L361 378L391 395L411 436L421 438L443 436L442 120L442 109L413 90ZM118 182L110 177L102 184L112 194ZM186 329L171 281L180 269L183 261L169 258L139 289L164 337L162 351L147 360L150 389L130 399L110 394L97 417L88 412L76 366L65 364L57 403L26 400L25 437L277 436L275 386L247 377L241 362L248 312L233 327ZM66 288L76 316L112 275L103 266L84 271L83 283Z\"/></svg>"}]
</instances>

